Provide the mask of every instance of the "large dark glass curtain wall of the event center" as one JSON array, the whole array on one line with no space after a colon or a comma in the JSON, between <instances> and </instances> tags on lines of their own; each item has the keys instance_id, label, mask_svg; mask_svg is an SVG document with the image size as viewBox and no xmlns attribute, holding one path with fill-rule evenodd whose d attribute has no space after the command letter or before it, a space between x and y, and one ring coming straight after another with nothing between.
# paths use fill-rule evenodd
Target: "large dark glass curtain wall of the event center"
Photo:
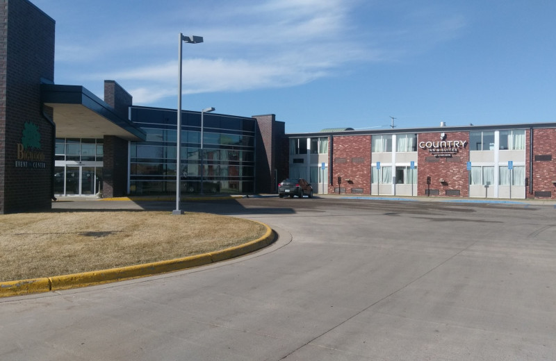
<instances>
[{"instance_id":1,"label":"large dark glass curtain wall of the event center","mask_svg":"<svg viewBox=\"0 0 556 361\"><path fill-rule=\"evenodd\" d=\"M131 142L131 194L175 194L177 171L184 193L254 190L254 119L205 113L201 152L201 115L183 111L179 170L176 111L133 107L131 119L147 133L145 142Z\"/></svg>"}]
</instances>

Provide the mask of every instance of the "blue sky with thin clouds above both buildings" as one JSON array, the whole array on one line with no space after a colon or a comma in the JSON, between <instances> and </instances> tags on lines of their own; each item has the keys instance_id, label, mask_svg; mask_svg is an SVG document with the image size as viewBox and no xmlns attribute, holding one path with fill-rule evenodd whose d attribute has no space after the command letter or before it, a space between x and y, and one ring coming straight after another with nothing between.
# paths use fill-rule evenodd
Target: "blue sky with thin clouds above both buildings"
<instances>
[{"instance_id":1,"label":"blue sky with thin clouds above both buildings","mask_svg":"<svg viewBox=\"0 0 556 361\"><path fill-rule=\"evenodd\" d=\"M31 0L57 84L140 106L273 113L287 133L556 121L556 1Z\"/></svg>"}]
</instances>

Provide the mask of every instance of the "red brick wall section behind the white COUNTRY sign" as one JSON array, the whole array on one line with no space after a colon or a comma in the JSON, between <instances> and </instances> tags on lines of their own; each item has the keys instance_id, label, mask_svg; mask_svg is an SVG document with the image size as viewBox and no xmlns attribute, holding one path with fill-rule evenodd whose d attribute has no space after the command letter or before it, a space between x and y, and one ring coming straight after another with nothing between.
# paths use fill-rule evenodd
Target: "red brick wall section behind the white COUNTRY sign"
<instances>
[{"instance_id":1,"label":"red brick wall section behind the white COUNTRY sign","mask_svg":"<svg viewBox=\"0 0 556 361\"><path fill-rule=\"evenodd\" d=\"M417 194L419 196L434 194L438 190L439 196L450 196L450 190L459 190L460 197L469 196L469 174L467 171L467 162L469 160L469 132L452 132L445 133L445 140L466 141L465 148L459 148L457 154L451 158L435 158L427 149L417 147ZM439 142L440 133L419 133L417 142ZM427 185L427 177L430 176L431 184ZM444 183L439 180L443 178ZM446 194L448 191L448 194Z\"/></svg>"}]
</instances>

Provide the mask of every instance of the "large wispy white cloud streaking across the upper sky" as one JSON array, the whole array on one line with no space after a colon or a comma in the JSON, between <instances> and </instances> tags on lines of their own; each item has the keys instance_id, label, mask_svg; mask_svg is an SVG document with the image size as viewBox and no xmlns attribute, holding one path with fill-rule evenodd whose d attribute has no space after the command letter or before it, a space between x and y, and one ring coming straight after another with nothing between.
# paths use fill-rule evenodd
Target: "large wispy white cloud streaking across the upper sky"
<instances>
[{"instance_id":1,"label":"large wispy white cloud streaking across the upper sky","mask_svg":"<svg viewBox=\"0 0 556 361\"><path fill-rule=\"evenodd\" d=\"M207 9L189 5L172 15L162 5L162 17L154 13L145 22L121 24L120 31L99 33L85 46L61 44L56 61L87 64L87 72L72 74L74 80L122 81L136 103L149 104L175 93L177 62L168 59L177 57L175 29L183 26L183 19L190 33L206 40L186 47L184 93L302 85L349 72L358 62L418 51L464 26L457 16L439 17L422 9L405 13L407 24L381 26L373 23L373 6L363 0L221 1L207 17L192 16ZM358 14L363 8L369 22Z\"/></svg>"}]
</instances>

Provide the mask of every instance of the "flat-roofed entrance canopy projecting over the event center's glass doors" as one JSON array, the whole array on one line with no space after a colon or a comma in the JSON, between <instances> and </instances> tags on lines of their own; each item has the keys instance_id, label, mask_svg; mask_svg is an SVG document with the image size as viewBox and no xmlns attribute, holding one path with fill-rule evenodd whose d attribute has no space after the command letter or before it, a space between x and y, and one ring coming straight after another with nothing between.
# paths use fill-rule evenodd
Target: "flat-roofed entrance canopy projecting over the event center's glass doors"
<instances>
[{"instance_id":1,"label":"flat-roofed entrance canopy projecting over the event center's glass doors","mask_svg":"<svg viewBox=\"0 0 556 361\"><path fill-rule=\"evenodd\" d=\"M144 131L81 85L42 84L41 94L44 105L54 109L56 137L145 140Z\"/></svg>"}]
</instances>

